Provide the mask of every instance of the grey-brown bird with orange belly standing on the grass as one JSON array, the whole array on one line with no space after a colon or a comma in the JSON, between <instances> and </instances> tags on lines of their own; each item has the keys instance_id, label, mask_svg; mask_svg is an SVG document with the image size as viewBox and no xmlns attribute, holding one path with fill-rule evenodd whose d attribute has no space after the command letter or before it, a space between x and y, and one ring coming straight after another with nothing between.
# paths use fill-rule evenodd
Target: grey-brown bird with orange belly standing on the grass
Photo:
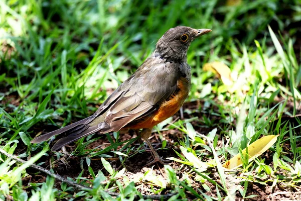
<instances>
[{"instance_id":1,"label":"grey-brown bird with orange belly standing on the grass","mask_svg":"<svg viewBox=\"0 0 301 201\"><path fill-rule=\"evenodd\" d=\"M149 137L152 128L172 117L182 107L191 85L191 67L187 51L196 38L211 32L177 26L169 29L158 40L156 49L137 70L121 83L90 117L58 130L35 137L31 143L41 143L52 136L66 133L52 151L57 151L82 137L99 132L140 132L153 153L154 160L145 166L166 160L160 158Z\"/></svg>"}]
</instances>

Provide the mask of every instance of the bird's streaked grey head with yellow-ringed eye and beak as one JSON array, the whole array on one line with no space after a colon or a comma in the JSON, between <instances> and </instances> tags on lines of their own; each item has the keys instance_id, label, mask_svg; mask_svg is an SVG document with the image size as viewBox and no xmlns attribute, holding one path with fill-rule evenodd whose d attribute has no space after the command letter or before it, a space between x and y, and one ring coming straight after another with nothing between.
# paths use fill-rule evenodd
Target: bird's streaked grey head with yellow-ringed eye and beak
<instances>
[{"instance_id":1,"label":"bird's streaked grey head with yellow-ringed eye and beak","mask_svg":"<svg viewBox=\"0 0 301 201\"><path fill-rule=\"evenodd\" d=\"M171 28L159 39L153 55L168 60L186 62L187 50L191 42L209 32L211 32L210 29L193 29L184 26Z\"/></svg>"}]
</instances>

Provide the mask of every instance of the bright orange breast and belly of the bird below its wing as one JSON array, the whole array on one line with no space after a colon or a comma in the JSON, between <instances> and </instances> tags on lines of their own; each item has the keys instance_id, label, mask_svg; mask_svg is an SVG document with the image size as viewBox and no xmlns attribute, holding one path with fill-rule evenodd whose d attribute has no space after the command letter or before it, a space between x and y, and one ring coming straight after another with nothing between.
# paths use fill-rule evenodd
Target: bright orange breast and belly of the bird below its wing
<instances>
[{"instance_id":1,"label":"bright orange breast and belly of the bird below its wing","mask_svg":"<svg viewBox=\"0 0 301 201\"><path fill-rule=\"evenodd\" d=\"M169 100L163 102L159 107L158 111L156 111L145 121L133 125L130 128L131 129L152 128L157 124L159 124L160 122L163 122L167 118L176 114L176 112L178 112L182 107L184 100L186 99L189 92L189 85L186 78L180 78L178 80L177 87L179 89L178 93L172 95Z\"/></svg>"}]
</instances>

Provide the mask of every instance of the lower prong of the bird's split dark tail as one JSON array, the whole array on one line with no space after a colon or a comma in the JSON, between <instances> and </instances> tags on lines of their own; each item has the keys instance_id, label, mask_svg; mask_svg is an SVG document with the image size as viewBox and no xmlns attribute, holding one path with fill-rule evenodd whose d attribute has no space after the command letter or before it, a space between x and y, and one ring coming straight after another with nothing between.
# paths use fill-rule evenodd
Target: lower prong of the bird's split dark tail
<instances>
[{"instance_id":1,"label":"lower prong of the bird's split dark tail","mask_svg":"<svg viewBox=\"0 0 301 201\"><path fill-rule=\"evenodd\" d=\"M100 131L101 133L107 133L110 132L110 126L107 123L102 123L100 125L97 126L85 126L83 129L78 130L75 133L71 133L70 135L68 135L65 138L61 138L59 139L55 145L53 145L51 151L56 151L60 148L62 148L63 146L70 144L71 142L74 142L82 137L85 137L87 135L96 133L97 131Z\"/></svg>"}]
</instances>

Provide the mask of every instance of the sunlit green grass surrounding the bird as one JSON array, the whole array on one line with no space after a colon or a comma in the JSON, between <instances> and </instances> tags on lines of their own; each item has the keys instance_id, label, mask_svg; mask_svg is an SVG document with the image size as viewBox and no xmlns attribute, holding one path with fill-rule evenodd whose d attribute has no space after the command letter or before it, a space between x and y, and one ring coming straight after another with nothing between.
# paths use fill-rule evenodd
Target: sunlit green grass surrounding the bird
<instances>
[{"instance_id":1,"label":"sunlit green grass surrounding the bird","mask_svg":"<svg viewBox=\"0 0 301 201\"><path fill-rule=\"evenodd\" d=\"M132 200L169 193L170 200L247 200L258 195L251 186L296 198L300 121L281 118L301 111L300 11L298 1L0 0L0 148L28 161L0 155L0 199ZM30 144L43 131L92 115L177 25L213 31L188 52L193 78L185 119L155 128L161 151L176 160L160 166L163 174L158 165L129 171L126 162L145 150L119 133L80 139L70 153ZM229 66L232 85L203 70L216 61ZM172 138L171 131L182 135ZM277 134L255 161L243 160L236 171L221 167L260 137ZM58 172L74 161L80 172L71 168L64 176L91 189L75 189L29 167ZM31 180L38 176L44 179Z\"/></svg>"}]
</instances>

